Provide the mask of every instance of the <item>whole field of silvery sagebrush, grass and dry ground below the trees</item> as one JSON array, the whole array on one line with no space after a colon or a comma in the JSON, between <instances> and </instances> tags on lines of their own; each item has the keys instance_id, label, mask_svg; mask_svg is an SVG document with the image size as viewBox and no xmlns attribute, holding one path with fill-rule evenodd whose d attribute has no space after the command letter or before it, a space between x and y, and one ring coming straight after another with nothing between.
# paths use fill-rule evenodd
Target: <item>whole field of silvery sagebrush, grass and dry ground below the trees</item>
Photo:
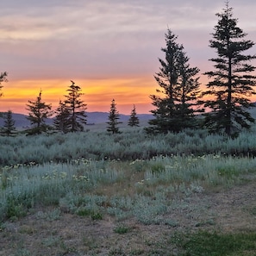
<instances>
[{"instance_id":1,"label":"whole field of silvery sagebrush, grass and dry ground below the trees","mask_svg":"<svg viewBox=\"0 0 256 256\"><path fill-rule=\"evenodd\" d=\"M0 255L255 255L256 136L0 137Z\"/></svg>"}]
</instances>

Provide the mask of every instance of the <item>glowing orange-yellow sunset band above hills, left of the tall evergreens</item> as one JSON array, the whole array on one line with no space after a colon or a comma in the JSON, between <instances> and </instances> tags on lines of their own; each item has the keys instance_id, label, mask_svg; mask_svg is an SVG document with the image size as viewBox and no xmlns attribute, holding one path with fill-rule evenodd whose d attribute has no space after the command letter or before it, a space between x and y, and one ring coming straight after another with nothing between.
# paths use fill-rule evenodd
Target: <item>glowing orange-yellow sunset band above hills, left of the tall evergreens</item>
<instances>
[{"instance_id":1,"label":"glowing orange-yellow sunset band above hills, left of the tall evergreens","mask_svg":"<svg viewBox=\"0 0 256 256\"><path fill-rule=\"evenodd\" d=\"M81 98L87 104L88 112L109 112L113 98L120 114L130 114L134 104L138 114L148 114L153 109L149 98L156 89L153 78L74 79L74 82L84 93ZM40 91L42 101L51 103L56 109L59 100L65 100L69 85L70 81L61 79L9 81L3 84L0 111L12 110L27 115L28 100L34 102Z\"/></svg>"}]
</instances>

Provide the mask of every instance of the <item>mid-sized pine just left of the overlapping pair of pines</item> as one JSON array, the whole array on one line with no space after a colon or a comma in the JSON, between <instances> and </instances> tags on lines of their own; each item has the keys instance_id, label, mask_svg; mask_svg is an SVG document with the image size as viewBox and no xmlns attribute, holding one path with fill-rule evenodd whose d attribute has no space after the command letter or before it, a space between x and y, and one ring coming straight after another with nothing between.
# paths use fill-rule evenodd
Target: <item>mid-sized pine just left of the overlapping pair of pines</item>
<instances>
[{"instance_id":1,"label":"mid-sized pine just left of the overlapping pair of pines","mask_svg":"<svg viewBox=\"0 0 256 256\"><path fill-rule=\"evenodd\" d=\"M42 102L41 91L35 102L28 101L27 107L27 110L30 111L27 119L34 126L28 131L28 134L41 134L41 132L47 131L49 126L46 124L46 120L53 116L53 111L51 104Z\"/></svg>"}]
</instances>

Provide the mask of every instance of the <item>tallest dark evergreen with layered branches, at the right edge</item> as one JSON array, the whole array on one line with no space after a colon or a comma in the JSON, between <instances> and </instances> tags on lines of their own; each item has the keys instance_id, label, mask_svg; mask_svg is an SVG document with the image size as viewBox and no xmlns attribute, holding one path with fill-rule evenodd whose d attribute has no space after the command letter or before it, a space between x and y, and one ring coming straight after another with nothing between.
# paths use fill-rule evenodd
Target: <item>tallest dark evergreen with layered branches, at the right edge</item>
<instances>
[{"instance_id":1,"label":"tallest dark evergreen with layered branches, at the right edge","mask_svg":"<svg viewBox=\"0 0 256 256\"><path fill-rule=\"evenodd\" d=\"M250 73L255 71L255 66L248 62L256 56L243 53L254 43L244 39L247 34L237 26L238 20L233 18L228 2L216 16L219 20L209 47L214 48L218 56L209 59L215 63L215 71L205 72L213 78L207 84L209 91L203 93L213 98L205 102L205 107L211 109L205 116L205 125L210 132L235 136L241 128L250 128L250 123L254 122L247 109L253 107L249 97L255 94L256 77Z\"/></svg>"}]
</instances>

